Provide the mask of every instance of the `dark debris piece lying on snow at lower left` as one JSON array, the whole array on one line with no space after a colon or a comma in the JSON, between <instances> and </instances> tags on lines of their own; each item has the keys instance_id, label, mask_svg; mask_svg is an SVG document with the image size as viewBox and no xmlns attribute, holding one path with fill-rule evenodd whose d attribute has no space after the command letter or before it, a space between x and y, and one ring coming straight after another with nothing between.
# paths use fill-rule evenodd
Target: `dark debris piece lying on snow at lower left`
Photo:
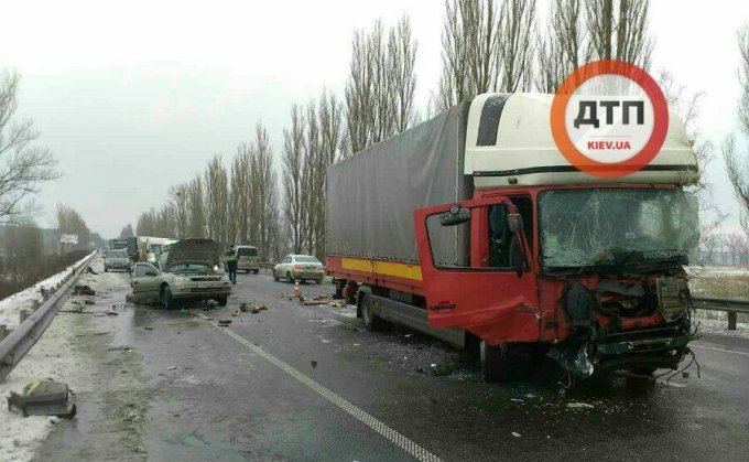
<instances>
[{"instance_id":1,"label":"dark debris piece lying on snow at lower left","mask_svg":"<svg viewBox=\"0 0 749 462\"><path fill-rule=\"evenodd\" d=\"M7 399L8 409L15 408L21 416L55 416L72 418L76 406L68 402L70 391L66 384L35 378L18 394L11 391Z\"/></svg>"}]
</instances>

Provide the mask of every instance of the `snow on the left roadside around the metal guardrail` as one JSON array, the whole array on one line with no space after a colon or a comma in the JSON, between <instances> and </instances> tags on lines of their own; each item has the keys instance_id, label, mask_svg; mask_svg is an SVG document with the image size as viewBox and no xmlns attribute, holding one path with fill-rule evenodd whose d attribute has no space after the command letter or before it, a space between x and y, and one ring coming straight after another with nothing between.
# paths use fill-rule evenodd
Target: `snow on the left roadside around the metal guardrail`
<instances>
[{"instance_id":1,"label":"snow on the left roadside around the metal guardrail","mask_svg":"<svg viewBox=\"0 0 749 462\"><path fill-rule=\"evenodd\" d=\"M66 271L69 271L69 268ZM26 296L29 303L32 297L36 296L37 287L57 283L64 272L40 282L34 288L26 289L24 292L30 291ZM96 277L90 275L82 276L79 282L91 286L94 290L97 290L99 286ZM6 318L12 310L18 310L21 304L20 300L22 300L21 297L14 299L11 297L0 302L4 310L2 318ZM62 309L69 310L72 307L72 300L68 299ZM63 382L68 384L73 391L90 387L87 379L90 377L89 367L93 366L86 361L80 361L74 347L75 343L79 342L76 335L80 332L82 321L84 321L80 316L84 315L63 313L56 315L40 341L6 380L0 382L0 397L3 400L0 406L0 461L31 460L34 451L52 431L56 421L56 418L45 416L23 418L9 411L4 398L10 396L11 391L21 391L24 385L33 378ZM18 314L13 313L12 318L18 321ZM0 320L0 322L4 321Z\"/></svg>"}]
</instances>

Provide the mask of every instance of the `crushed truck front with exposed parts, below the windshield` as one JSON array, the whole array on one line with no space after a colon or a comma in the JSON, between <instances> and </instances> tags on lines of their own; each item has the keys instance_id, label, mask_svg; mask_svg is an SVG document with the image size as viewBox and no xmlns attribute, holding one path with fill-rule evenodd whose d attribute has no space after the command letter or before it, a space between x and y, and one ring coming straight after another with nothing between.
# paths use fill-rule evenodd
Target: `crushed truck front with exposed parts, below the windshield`
<instances>
[{"instance_id":1,"label":"crushed truck front with exposed parts, below the windshield","mask_svg":"<svg viewBox=\"0 0 749 462\"><path fill-rule=\"evenodd\" d=\"M683 276L574 282L561 297L564 321L549 355L578 377L675 369L694 335Z\"/></svg>"}]
</instances>

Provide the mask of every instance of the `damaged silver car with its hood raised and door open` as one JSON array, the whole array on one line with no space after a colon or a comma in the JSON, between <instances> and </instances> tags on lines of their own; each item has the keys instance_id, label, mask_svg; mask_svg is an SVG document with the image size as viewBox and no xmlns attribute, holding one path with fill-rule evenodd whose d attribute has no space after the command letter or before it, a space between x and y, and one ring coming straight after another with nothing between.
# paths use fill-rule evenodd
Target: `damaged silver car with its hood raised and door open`
<instances>
[{"instance_id":1,"label":"damaged silver car with its hood raised and door open","mask_svg":"<svg viewBox=\"0 0 749 462\"><path fill-rule=\"evenodd\" d=\"M135 264L131 287L134 302L160 303L167 310L203 300L226 307L231 294L231 282L219 267L218 244L213 239L173 244L162 270Z\"/></svg>"}]
</instances>

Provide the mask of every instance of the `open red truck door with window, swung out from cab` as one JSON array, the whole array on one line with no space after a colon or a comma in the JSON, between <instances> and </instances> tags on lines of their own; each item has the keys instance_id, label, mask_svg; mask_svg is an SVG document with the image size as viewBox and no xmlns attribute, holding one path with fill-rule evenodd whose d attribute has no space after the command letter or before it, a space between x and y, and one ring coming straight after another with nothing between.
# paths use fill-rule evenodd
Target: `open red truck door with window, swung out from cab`
<instances>
[{"instance_id":1,"label":"open red truck door with window, swung out from cab","mask_svg":"<svg viewBox=\"0 0 749 462\"><path fill-rule=\"evenodd\" d=\"M415 212L431 327L462 329L491 345L538 341L538 266L529 246L533 215L530 196Z\"/></svg>"}]
</instances>

